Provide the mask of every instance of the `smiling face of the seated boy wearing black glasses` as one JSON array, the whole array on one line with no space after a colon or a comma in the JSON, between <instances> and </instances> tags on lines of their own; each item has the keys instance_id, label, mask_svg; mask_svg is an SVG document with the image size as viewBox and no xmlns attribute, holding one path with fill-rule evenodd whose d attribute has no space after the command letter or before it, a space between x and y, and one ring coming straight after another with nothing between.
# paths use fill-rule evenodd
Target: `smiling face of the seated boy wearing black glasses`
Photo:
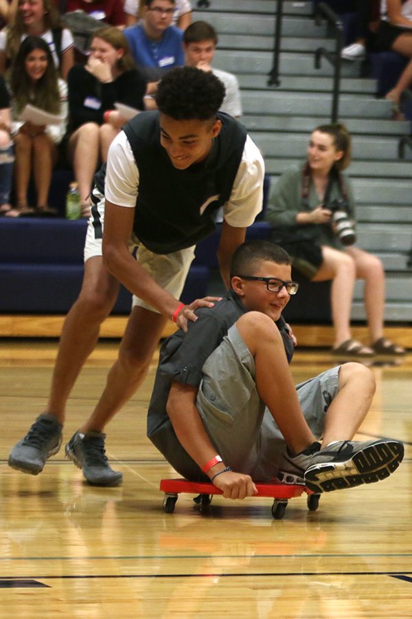
<instances>
[{"instance_id":1,"label":"smiling face of the seated boy wearing black glasses","mask_svg":"<svg viewBox=\"0 0 412 619\"><path fill-rule=\"evenodd\" d=\"M282 281L292 279L292 268L288 264L277 264L269 260L260 260L253 268L242 275L255 277L273 277ZM283 286L279 292L270 292L264 281L242 279L233 276L231 281L233 290L240 296L244 307L250 312L262 312L277 321L290 299L290 294Z\"/></svg>"}]
</instances>

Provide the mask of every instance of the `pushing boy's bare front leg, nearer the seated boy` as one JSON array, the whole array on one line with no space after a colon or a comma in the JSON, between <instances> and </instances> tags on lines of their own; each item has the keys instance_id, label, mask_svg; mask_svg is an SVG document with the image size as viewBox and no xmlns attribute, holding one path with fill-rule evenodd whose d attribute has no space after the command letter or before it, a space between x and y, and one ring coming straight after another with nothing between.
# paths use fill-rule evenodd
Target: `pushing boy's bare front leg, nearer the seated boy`
<instances>
[{"instance_id":1,"label":"pushing boy's bare front leg, nearer the seated boy","mask_svg":"<svg viewBox=\"0 0 412 619\"><path fill-rule=\"evenodd\" d=\"M135 393L146 376L167 318L134 307L119 348L119 357L108 373L106 387L82 433L101 432Z\"/></svg>"}]
</instances>

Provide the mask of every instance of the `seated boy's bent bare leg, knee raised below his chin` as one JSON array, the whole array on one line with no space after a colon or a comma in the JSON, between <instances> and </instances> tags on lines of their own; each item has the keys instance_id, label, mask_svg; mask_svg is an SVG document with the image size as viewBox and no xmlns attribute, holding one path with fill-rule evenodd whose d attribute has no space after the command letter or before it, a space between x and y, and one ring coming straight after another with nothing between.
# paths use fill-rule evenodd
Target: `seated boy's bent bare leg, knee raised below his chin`
<instances>
[{"instance_id":1,"label":"seated boy's bent bare leg, knee raised below his chin","mask_svg":"<svg viewBox=\"0 0 412 619\"><path fill-rule=\"evenodd\" d=\"M260 397L290 449L294 453L301 452L316 439L301 411L279 330L271 318L260 312L247 312L238 319L236 326L255 358L255 380ZM276 380L273 379L274 368Z\"/></svg>"}]
</instances>

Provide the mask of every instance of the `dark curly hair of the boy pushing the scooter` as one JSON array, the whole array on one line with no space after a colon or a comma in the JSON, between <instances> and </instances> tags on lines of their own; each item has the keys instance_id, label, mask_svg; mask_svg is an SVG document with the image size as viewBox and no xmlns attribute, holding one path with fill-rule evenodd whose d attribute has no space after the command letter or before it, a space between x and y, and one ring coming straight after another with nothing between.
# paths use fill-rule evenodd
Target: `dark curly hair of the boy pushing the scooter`
<instances>
[{"instance_id":1,"label":"dark curly hair of the boy pushing the scooter","mask_svg":"<svg viewBox=\"0 0 412 619\"><path fill-rule=\"evenodd\" d=\"M210 120L225 98L225 86L210 72L176 67L161 79L156 94L159 111L174 120Z\"/></svg>"}]
</instances>

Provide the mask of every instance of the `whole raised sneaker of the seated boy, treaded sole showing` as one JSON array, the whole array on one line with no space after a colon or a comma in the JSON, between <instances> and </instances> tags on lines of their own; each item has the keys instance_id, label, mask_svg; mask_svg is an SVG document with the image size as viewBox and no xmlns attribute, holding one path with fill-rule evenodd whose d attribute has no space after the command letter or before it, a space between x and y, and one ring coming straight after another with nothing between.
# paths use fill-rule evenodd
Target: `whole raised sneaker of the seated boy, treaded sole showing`
<instances>
[{"instance_id":1,"label":"whole raised sneaker of the seated boy, treaded sole showing","mask_svg":"<svg viewBox=\"0 0 412 619\"><path fill-rule=\"evenodd\" d=\"M404 446L400 441L334 443L312 455L305 484L317 493L372 484L389 477L403 457Z\"/></svg>"}]
</instances>

